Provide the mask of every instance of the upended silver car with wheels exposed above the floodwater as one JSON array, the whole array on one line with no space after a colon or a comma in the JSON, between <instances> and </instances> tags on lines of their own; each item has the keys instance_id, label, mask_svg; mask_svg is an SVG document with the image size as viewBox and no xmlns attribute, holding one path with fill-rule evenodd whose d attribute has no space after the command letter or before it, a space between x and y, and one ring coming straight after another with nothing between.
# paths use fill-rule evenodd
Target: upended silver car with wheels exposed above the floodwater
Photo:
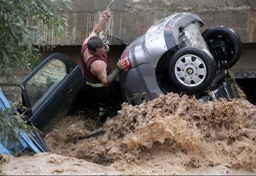
<instances>
[{"instance_id":1,"label":"upended silver car with wheels exposed above the floodwater","mask_svg":"<svg viewBox=\"0 0 256 176\"><path fill-rule=\"evenodd\" d=\"M159 20L122 53L122 92L127 102L140 104L158 93L187 93L204 102L232 99L228 68L241 58L241 39L225 26L203 33L204 23L193 13L175 13Z\"/></svg>"}]
</instances>

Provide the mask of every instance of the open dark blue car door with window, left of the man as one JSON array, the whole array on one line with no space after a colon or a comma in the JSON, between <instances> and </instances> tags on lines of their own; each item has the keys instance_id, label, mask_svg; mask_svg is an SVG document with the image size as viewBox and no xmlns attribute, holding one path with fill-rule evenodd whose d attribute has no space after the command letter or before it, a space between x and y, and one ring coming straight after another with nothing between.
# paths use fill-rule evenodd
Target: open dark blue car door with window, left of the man
<instances>
[{"instance_id":1,"label":"open dark blue car door with window, left of the man","mask_svg":"<svg viewBox=\"0 0 256 176\"><path fill-rule=\"evenodd\" d=\"M20 84L31 124L48 132L67 115L83 85L79 65L61 53L49 56Z\"/></svg>"}]
</instances>

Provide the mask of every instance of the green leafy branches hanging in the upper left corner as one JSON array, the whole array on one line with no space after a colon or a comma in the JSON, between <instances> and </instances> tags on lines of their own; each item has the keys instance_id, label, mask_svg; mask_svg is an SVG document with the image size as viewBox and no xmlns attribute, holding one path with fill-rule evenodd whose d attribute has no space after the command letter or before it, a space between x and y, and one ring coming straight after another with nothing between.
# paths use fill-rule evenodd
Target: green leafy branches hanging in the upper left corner
<instances>
[{"instance_id":1,"label":"green leafy branches hanging in the upper left corner","mask_svg":"<svg viewBox=\"0 0 256 176\"><path fill-rule=\"evenodd\" d=\"M44 29L52 29L55 37L65 30L63 8L70 0L1 0L0 1L0 75L17 66L28 68L38 61L33 47ZM40 40L44 45L45 41Z\"/></svg>"}]
</instances>

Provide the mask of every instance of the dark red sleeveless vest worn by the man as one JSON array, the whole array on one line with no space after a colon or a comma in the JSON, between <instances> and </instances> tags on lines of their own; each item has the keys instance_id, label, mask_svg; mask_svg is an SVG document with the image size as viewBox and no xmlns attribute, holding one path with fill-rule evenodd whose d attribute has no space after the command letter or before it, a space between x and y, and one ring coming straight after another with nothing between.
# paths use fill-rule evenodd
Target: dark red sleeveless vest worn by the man
<instances>
[{"instance_id":1,"label":"dark red sleeveless vest worn by the man","mask_svg":"<svg viewBox=\"0 0 256 176\"><path fill-rule=\"evenodd\" d=\"M90 58L88 58L87 62L84 62L84 51L87 49L87 44L85 44L82 49L81 49L81 63L82 63L82 67L83 67L83 72L84 72L84 76L86 77L86 83L93 83L93 84L97 84L97 83L101 83L98 79L97 76L93 75L92 72L90 71L90 66L93 63L93 61L95 60L102 60L105 61L107 63L107 74L111 74L111 65L110 62L108 60L108 56L107 53L104 52L104 54L102 54L102 56L92 56Z\"/></svg>"}]
</instances>

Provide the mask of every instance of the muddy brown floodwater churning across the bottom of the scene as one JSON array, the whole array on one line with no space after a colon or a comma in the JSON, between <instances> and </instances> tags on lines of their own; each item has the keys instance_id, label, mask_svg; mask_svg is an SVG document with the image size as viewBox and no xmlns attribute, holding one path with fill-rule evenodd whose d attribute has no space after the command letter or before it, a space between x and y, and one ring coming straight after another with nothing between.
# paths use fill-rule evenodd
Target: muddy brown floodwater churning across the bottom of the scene
<instances>
[{"instance_id":1,"label":"muddy brown floodwater churning across the bottom of the scene","mask_svg":"<svg viewBox=\"0 0 256 176\"><path fill-rule=\"evenodd\" d=\"M106 132L88 138L94 127ZM45 141L53 154L12 157L3 172L255 175L256 107L238 99L202 104L169 93L139 106L122 104L103 127L83 112L67 116Z\"/></svg>"}]
</instances>

